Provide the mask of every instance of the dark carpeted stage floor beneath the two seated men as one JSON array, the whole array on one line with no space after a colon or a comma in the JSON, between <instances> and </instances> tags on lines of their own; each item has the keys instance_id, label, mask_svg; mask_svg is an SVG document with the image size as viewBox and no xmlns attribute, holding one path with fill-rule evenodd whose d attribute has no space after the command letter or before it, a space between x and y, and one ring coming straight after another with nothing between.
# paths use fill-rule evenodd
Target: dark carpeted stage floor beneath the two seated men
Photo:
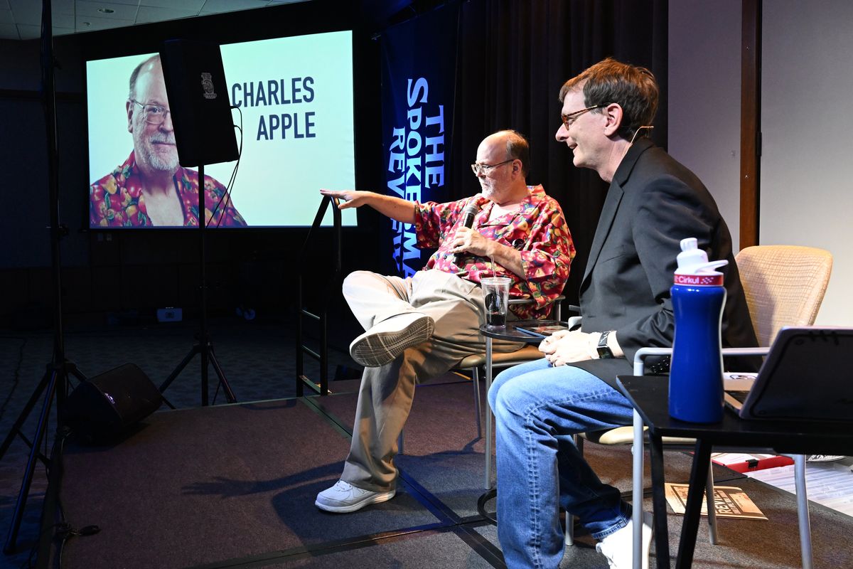
<instances>
[{"instance_id":1,"label":"dark carpeted stage floor beneath the two seated men","mask_svg":"<svg viewBox=\"0 0 853 569\"><path fill-rule=\"evenodd\" d=\"M314 506L349 447L357 381L336 384L324 398L160 411L112 446L69 441L60 494L66 520L101 531L68 540L61 566L504 566L496 528L476 510L484 455L470 381L448 374L417 388L397 496L354 514ZM602 479L629 489L629 449L587 444L586 454ZM689 456L668 453L667 479L686 481L689 465ZM701 527L693 566L800 566L793 496L722 467L716 475L743 488L769 520L721 520L717 546ZM670 512L668 521L675 550L681 518ZM811 521L815 567L853 566L853 519L813 505ZM51 566L58 556L55 542ZM561 566L607 563L580 536Z\"/></svg>"}]
</instances>

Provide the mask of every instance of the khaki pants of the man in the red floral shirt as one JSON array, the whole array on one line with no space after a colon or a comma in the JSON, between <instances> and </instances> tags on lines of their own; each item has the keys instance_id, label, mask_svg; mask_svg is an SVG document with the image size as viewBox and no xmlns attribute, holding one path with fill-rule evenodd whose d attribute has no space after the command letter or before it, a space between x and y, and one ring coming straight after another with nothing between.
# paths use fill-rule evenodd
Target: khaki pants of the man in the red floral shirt
<instances>
[{"instance_id":1,"label":"khaki pants of the man in the red floral shirt","mask_svg":"<svg viewBox=\"0 0 853 569\"><path fill-rule=\"evenodd\" d=\"M343 288L365 330L406 312L422 312L435 321L430 340L403 351L392 363L365 368L362 376L350 455L341 479L365 490L389 491L397 479L393 457L412 407L415 383L485 351L485 338L479 334L485 322L483 292L479 285L439 270L421 270L407 279L360 270L345 278ZM493 343L495 351L520 347L502 340Z\"/></svg>"}]
</instances>

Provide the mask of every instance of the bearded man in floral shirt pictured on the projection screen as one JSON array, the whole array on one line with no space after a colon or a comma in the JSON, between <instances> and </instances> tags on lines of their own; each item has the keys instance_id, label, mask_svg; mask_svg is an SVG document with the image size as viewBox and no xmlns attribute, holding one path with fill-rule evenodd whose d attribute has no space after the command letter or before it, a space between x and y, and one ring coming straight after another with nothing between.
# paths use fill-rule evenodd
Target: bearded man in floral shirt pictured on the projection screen
<instances>
[{"instance_id":1,"label":"bearded man in floral shirt pictured on the projection screen","mask_svg":"<svg viewBox=\"0 0 853 569\"><path fill-rule=\"evenodd\" d=\"M177 162L160 55L131 73L125 103L133 152L89 189L92 227L175 227L199 224L199 174ZM246 222L225 195L225 187L205 176L205 220L222 227Z\"/></svg>"}]
</instances>

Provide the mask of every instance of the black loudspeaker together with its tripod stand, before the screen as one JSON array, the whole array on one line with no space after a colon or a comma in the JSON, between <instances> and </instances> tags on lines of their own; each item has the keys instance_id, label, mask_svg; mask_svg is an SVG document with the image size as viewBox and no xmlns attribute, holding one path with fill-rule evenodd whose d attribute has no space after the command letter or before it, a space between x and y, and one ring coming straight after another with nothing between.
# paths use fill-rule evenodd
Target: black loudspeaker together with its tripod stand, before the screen
<instances>
[{"instance_id":1,"label":"black loudspeaker together with its tripod stand, before the screen","mask_svg":"<svg viewBox=\"0 0 853 569\"><path fill-rule=\"evenodd\" d=\"M177 155L182 166L199 167L199 261L201 322L198 341L160 386L160 393L199 354L201 357L201 404L208 404L207 368L212 364L229 403L237 400L213 351L207 332L207 277L205 254L205 165L237 160L234 121L228 100L228 84L218 44L173 39L160 52L166 95L169 97ZM166 401L166 404L169 404ZM171 407L171 404L169 405Z\"/></svg>"}]
</instances>

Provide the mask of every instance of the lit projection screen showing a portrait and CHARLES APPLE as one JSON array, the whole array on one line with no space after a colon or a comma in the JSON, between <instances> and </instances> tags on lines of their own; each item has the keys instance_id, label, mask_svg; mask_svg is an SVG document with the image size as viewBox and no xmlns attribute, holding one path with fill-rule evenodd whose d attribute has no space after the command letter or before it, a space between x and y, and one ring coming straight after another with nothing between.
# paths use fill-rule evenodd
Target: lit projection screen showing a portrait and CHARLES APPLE
<instances>
[{"instance_id":1,"label":"lit projection screen showing a portrait and CHARLES APPLE","mask_svg":"<svg viewBox=\"0 0 853 569\"><path fill-rule=\"evenodd\" d=\"M86 61L91 228L197 227L202 219L209 228L305 227L319 189L356 187L352 33L220 51L227 92L218 95L229 99L241 155L239 167L205 165L203 214L198 171L179 163L160 57ZM354 210L341 218L357 224ZM323 224L331 223L328 211Z\"/></svg>"}]
</instances>

